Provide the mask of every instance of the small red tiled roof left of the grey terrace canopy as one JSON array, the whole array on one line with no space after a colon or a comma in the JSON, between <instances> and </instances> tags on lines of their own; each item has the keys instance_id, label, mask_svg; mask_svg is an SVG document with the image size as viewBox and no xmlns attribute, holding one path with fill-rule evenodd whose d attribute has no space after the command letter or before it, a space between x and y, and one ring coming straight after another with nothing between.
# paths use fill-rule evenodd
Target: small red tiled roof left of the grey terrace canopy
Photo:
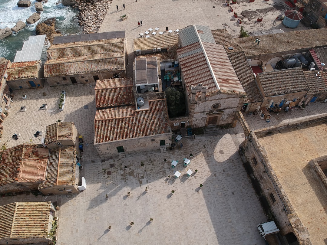
<instances>
[{"instance_id":1,"label":"small red tiled roof left of the grey terrace canopy","mask_svg":"<svg viewBox=\"0 0 327 245\"><path fill-rule=\"evenodd\" d=\"M97 80L95 85L96 108L135 104L132 78Z\"/></svg>"}]
</instances>

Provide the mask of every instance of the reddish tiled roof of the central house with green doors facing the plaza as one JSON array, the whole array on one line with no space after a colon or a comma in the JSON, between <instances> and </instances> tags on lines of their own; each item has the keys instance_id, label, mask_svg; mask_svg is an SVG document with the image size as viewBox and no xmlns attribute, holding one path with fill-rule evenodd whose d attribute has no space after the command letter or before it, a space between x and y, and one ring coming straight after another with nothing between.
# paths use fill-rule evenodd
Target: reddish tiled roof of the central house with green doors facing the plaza
<instances>
[{"instance_id":1,"label":"reddish tiled roof of the central house with green doors facing the plaza","mask_svg":"<svg viewBox=\"0 0 327 245\"><path fill-rule=\"evenodd\" d=\"M149 100L149 109L121 106L97 110L95 143L170 133L166 99Z\"/></svg>"}]
</instances>

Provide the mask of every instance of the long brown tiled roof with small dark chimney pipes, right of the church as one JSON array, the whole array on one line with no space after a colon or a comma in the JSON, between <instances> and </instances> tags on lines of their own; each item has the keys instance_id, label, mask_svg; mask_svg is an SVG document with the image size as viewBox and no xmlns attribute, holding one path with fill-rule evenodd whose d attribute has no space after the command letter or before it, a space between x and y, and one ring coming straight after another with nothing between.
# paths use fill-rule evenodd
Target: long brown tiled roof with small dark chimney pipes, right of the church
<instances>
[{"instance_id":1,"label":"long brown tiled roof with small dark chimney pipes, right of the church","mask_svg":"<svg viewBox=\"0 0 327 245\"><path fill-rule=\"evenodd\" d=\"M289 31L247 38L233 38L224 43L227 53L244 51L247 57L282 53L285 51L308 49L327 45L327 29L310 29L302 31ZM259 38L260 44L255 43ZM220 41L219 39L217 41ZM228 47L232 47L229 50Z\"/></svg>"}]
</instances>

